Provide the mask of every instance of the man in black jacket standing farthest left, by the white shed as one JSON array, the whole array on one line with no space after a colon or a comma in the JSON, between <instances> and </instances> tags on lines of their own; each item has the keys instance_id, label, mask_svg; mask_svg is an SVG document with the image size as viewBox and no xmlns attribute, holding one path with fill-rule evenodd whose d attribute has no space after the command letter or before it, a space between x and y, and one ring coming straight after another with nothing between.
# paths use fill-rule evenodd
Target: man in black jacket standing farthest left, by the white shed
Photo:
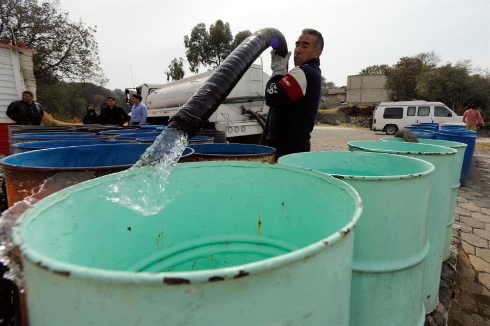
<instances>
[{"instance_id":1,"label":"man in black jacket standing farthest left, by the white shed","mask_svg":"<svg viewBox=\"0 0 490 326\"><path fill-rule=\"evenodd\" d=\"M10 103L7 108L7 116L21 125L40 125L44 111L41 104L34 102L33 99L34 94L31 91L23 91L21 101Z\"/></svg>"}]
</instances>

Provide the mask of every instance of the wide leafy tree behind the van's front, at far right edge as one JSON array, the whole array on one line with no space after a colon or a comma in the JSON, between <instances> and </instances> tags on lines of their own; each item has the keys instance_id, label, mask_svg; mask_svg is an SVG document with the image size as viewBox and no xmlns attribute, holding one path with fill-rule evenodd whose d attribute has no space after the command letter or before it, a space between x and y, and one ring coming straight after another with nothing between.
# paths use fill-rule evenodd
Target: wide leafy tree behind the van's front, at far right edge
<instances>
[{"instance_id":1,"label":"wide leafy tree behind the van's front, at far right edge","mask_svg":"<svg viewBox=\"0 0 490 326\"><path fill-rule=\"evenodd\" d=\"M472 103L490 112L490 75L473 73L467 60L425 71L417 91L421 99L441 101L459 114Z\"/></svg>"}]
</instances>

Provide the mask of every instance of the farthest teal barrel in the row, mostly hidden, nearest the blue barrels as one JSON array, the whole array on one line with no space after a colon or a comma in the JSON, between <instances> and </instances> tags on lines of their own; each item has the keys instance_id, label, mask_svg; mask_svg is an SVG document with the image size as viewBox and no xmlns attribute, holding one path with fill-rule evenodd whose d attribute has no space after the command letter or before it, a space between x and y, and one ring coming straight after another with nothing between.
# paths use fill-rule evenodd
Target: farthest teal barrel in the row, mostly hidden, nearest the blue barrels
<instances>
[{"instance_id":1,"label":"farthest teal barrel in the row, mostly hidden, nearest the blue barrels","mask_svg":"<svg viewBox=\"0 0 490 326\"><path fill-rule=\"evenodd\" d=\"M380 140L383 142L405 141L403 138L395 138L395 137L385 137L385 138L381 138ZM456 207L456 198L458 197L458 189L460 185L459 178L461 176L461 169L463 167L464 153L468 145L463 143L458 143L458 142L442 141L436 139L419 139L419 143L446 146L458 151L456 155L454 155L453 172L451 173L451 176L453 177L453 184L451 186L451 197L449 199L448 224L446 227L446 240L444 241L444 255L443 255L443 260L446 261L449 259L449 256L451 255L451 238L453 234L454 209Z\"/></svg>"}]
</instances>

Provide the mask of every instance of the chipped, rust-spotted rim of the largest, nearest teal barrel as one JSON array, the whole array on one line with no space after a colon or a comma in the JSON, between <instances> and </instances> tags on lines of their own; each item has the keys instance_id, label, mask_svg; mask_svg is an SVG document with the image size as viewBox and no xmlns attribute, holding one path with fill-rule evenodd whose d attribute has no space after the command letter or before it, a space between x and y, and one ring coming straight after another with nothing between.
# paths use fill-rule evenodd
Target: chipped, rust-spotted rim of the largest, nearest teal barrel
<instances>
[{"instance_id":1,"label":"chipped, rust-spotted rim of the largest, nearest teal barrel","mask_svg":"<svg viewBox=\"0 0 490 326\"><path fill-rule=\"evenodd\" d=\"M278 255L272 258L266 258L259 261L235 265L231 267L223 267L217 269L205 269L195 271L166 271L160 273L150 273L146 271L133 272L133 271L120 271L120 270L107 270L101 268L83 267L72 263L61 262L59 260L48 257L34 248L29 247L22 239L21 229L22 224L29 223L31 220L35 220L36 216L28 216L34 210L42 212L44 209L50 207L53 204L63 202L73 192L72 187L63 189L62 191L48 196L38 202L26 213L23 213L12 231L12 239L15 246L17 246L22 252L23 257L29 259L34 264L40 265L46 270L51 270L53 273L74 276L81 279L97 279L111 283L125 283L125 284L152 284L152 285L181 285L181 284L197 284L197 283L209 283L214 281L225 281L237 279L249 275L256 275L267 271L269 269L280 268L292 262L301 261L307 259L313 255L316 255L326 248L334 246L334 244L341 241L347 236L353 236L351 232L357 225L361 213L362 213L362 201L359 194L355 189L344 181L335 179L324 173L318 171L307 170L298 167L285 166L280 164L269 164L266 162L242 162L242 161L220 161L220 162L191 162L178 164L176 169L200 169L203 167L223 166L224 164L237 167L246 167L253 173L254 168L263 167L264 164L270 169L287 169L294 173L301 173L303 175L309 175L314 178L322 179L333 186L337 187L339 191L347 192L352 198L354 205L354 211L349 222L341 227L339 230L333 232L327 237L318 240L304 246L298 250ZM199 171L197 171L199 172ZM100 185L106 182L106 179L112 178L118 173L93 179L90 181L79 183L73 187L81 189L90 188L96 185ZM110 179L109 179L110 180ZM111 181L109 181L110 183ZM28 216L28 219L26 218Z\"/></svg>"}]
</instances>

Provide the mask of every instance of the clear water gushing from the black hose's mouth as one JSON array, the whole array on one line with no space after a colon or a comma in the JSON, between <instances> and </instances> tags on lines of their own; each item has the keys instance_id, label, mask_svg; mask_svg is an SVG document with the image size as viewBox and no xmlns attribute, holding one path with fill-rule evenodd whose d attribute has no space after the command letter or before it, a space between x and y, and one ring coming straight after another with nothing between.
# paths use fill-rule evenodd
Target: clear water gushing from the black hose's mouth
<instances>
[{"instance_id":1,"label":"clear water gushing from the black hose's mouth","mask_svg":"<svg viewBox=\"0 0 490 326\"><path fill-rule=\"evenodd\" d=\"M164 130L136 164L109 186L104 197L145 216L158 213L173 198L165 194L165 186L186 145L185 133Z\"/></svg>"}]
</instances>

